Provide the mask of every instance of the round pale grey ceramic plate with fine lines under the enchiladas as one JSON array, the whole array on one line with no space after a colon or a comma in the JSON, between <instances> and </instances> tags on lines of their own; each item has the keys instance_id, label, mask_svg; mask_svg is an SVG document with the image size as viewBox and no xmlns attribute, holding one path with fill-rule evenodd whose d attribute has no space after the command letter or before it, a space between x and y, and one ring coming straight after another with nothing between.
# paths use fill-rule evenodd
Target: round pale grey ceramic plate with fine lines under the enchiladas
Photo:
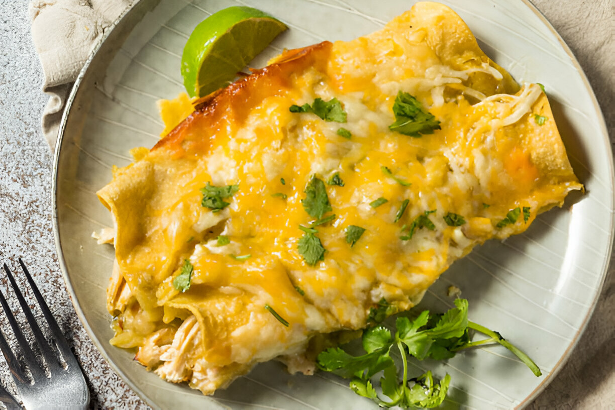
<instances>
[{"instance_id":1,"label":"round pale grey ceramic plate with fine lines under the enchiladas","mask_svg":"<svg viewBox=\"0 0 615 410\"><path fill-rule=\"evenodd\" d=\"M544 376L534 377L506 349L484 347L446 363L412 361L452 386L443 407L521 408L552 379L595 306L613 238L613 163L606 128L592 90L568 47L527 1L443 1L467 22L491 58L518 82L545 85L555 120L584 195L536 220L525 234L491 241L456 262L427 291L421 306L452 306L456 285L470 301L470 318L502 333L530 354ZM223 7L256 6L287 23L254 66L284 48L349 40L378 30L413 1L370 0L142 0L106 34L68 101L55 152L55 234L69 291L85 328L111 366L153 408L375 409L375 404L330 374L290 376L276 362L257 366L228 390L205 397L173 385L109 345L113 336L105 287L111 246L92 231L111 226L95 191L111 166L130 163L129 149L153 146L162 123L156 100L183 90L180 58L194 26Z\"/></svg>"}]
</instances>

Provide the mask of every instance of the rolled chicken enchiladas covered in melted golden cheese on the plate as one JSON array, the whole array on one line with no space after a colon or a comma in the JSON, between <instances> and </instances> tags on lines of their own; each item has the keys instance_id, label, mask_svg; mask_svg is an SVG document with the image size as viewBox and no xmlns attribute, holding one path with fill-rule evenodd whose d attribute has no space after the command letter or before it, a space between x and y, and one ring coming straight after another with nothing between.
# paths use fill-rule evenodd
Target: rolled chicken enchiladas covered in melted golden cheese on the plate
<instances>
[{"instance_id":1,"label":"rolled chicken enchiladas covered in melted golden cheese on the plate","mask_svg":"<svg viewBox=\"0 0 615 410\"><path fill-rule=\"evenodd\" d=\"M389 130L400 91L441 129ZM347 122L290 112L315 98L337 98ZM458 15L430 2L354 41L283 53L133 155L98 192L116 229L112 342L206 394L276 357L310 373L315 335L365 327L383 298L410 309L475 245L525 231L582 188L540 87L520 88ZM316 227L325 253L311 265L298 242L315 218L301 200L312 176L335 174L343 186L326 185L335 219ZM239 189L212 211L201 204L208 183ZM510 211L517 218L502 223ZM450 226L449 213L464 223ZM421 215L431 224L409 235ZM349 226L365 229L354 246ZM181 291L173 280L185 261L194 271Z\"/></svg>"}]
</instances>

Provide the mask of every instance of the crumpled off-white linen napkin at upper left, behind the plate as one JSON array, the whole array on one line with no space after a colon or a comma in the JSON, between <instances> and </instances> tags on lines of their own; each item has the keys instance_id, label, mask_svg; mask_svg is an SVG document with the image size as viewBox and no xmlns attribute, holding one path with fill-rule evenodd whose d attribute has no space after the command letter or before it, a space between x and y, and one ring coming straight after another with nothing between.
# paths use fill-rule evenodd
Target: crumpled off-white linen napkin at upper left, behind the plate
<instances>
[{"instance_id":1,"label":"crumpled off-white linen napkin at upper left, behind the plate","mask_svg":"<svg viewBox=\"0 0 615 410\"><path fill-rule=\"evenodd\" d=\"M33 0L32 39L41 60L42 90L50 95L42 132L55 148L68 93L105 30L136 0Z\"/></svg>"}]
</instances>

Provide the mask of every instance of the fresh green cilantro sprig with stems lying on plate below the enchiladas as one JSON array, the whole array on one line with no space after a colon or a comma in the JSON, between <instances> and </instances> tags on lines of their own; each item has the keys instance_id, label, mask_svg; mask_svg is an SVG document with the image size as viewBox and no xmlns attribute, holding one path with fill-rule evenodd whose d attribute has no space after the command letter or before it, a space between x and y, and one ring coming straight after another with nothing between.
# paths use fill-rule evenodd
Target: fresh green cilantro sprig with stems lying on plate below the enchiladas
<instances>
[{"instance_id":1,"label":"fresh green cilantro sprig with stems lying on plate below the enchiladas","mask_svg":"<svg viewBox=\"0 0 615 410\"><path fill-rule=\"evenodd\" d=\"M336 347L321 352L317 365L324 371L351 379L352 391L370 398L380 407L399 406L402 409L435 408L444 401L450 385L448 374L440 382L435 382L431 371L410 378L408 354L419 360L426 357L443 360L453 357L459 350L496 342L517 355L536 376L541 375L536 363L501 334L468 320L466 299L456 299L455 306L439 315L424 310L414 320L399 317L395 321L395 334L381 325L368 328L363 331L362 337L364 355L353 356ZM483 333L489 338L472 342L470 331ZM391 357L394 347L402 357L401 381L397 365ZM379 380L382 395L386 398L378 394L371 380L379 372L382 372Z\"/></svg>"}]
</instances>

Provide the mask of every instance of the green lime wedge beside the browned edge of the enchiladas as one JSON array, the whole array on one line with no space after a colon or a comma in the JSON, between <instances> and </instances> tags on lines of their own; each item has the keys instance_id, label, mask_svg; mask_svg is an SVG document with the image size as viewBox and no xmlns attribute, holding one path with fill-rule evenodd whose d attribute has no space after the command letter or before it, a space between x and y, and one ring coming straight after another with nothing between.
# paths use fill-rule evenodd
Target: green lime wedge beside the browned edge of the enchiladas
<instances>
[{"instance_id":1,"label":"green lime wedge beside the browned edge of the enchiladas","mask_svg":"<svg viewBox=\"0 0 615 410\"><path fill-rule=\"evenodd\" d=\"M181 55L190 97L204 97L236 77L282 31L284 23L252 7L228 7L194 28Z\"/></svg>"}]
</instances>

